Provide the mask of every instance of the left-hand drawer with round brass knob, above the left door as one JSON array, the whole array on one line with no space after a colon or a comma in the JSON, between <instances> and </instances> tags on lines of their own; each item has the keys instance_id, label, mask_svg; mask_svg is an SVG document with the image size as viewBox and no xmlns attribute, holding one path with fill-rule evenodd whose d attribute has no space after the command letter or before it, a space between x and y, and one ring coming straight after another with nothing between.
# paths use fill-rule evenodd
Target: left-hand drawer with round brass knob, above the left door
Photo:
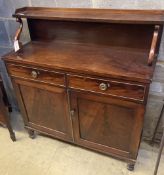
<instances>
[{"instance_id":1,"label":"left-hand drawer with round brass knob, above the left door","mask_svg":"<svg viewBox=\"0 0 164 175\"><path fill-rule=\"evenodd\" d=\"M65 75L63 73L14 64L7 64L7 68L9 74L13 77L65 86Z\"/></svg>"}]
</instances>

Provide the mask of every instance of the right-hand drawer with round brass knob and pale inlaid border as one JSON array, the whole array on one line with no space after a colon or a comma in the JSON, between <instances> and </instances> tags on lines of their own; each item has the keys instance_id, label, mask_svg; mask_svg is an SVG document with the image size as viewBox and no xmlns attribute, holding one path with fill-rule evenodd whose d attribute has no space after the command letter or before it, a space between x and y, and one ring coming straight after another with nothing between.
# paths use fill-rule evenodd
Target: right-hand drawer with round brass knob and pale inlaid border
<instances>
[{"instance_id":1,"label":"right-hand drawer with round brass knob and pale inlaid border","mask_svg":"<svg viewBox=\"0 0 164 175\"><path fill-rule=\"evenodd\" d=\"M144 101L145 86L113 80L68 75L69 88Z\"/></svg>"}]
</instances>

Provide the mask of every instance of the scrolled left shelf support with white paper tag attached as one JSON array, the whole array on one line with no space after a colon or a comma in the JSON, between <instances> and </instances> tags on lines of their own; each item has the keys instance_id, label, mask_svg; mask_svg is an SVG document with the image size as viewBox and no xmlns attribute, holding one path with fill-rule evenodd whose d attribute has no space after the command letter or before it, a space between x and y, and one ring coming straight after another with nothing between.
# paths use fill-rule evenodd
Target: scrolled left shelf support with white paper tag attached
<instances>
[{"instance_id":1,"label":"scrolled left shelf support with white paper tag attached","mask_svg":"<svg viewBox=\"0 0 164 175\"><path fill-rule=\"evenodd\" d=\"M19 28L17 29L16 33L15 33L15 37L14 37L14 48L15 48L15 52L18 51L21 47L22 47L22 43L19 41L20 39L20 35L23 29L23 22L21 18L16 18L16 22L19 22Z\"/></svg>"}]
</instances>

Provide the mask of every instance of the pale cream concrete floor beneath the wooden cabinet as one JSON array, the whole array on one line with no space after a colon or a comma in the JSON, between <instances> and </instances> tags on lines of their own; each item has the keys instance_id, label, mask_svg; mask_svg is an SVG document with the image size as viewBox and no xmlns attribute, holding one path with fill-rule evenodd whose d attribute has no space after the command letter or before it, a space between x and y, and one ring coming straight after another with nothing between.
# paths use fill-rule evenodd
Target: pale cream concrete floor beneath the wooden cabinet
<instances>
[{"instance_id":1,"label":"pale cream concrete floor beneath the wooden cabinet","mask_svg":"<svg viewBox=\"0 0 164 175\"><path fill-rule=\"evenodd\" d=\"M0 175L153 175L157 147L142 142L134 172L126 163L93 151L37 135L32 140L13 113L17 142L0 127ZM164 154L158 175L164 175Z\"/></svg>"}]
</instances>

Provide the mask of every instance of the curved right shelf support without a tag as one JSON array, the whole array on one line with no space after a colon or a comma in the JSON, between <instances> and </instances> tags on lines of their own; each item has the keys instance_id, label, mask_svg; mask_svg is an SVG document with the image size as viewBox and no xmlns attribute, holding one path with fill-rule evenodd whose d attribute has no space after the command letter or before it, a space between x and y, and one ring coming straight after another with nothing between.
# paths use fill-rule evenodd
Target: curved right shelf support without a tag
<instances>
[{"instance_id":1,"label":"curved right shelf support without a tag","mask_svg":"<svg viewBox=\"0 0 164 175\"><path fill-rule=\"evenodd\" d=\"M155 57L157 56L156 55L156 48L157 48L157 41L158 41L159 31L160 31L160 26L155 25L153 39L152 39L152 43L151 43L151 49L150 49L149 58L148 58L148 65L149 66L152 65Z\"/></svg>"}]
</instances>

